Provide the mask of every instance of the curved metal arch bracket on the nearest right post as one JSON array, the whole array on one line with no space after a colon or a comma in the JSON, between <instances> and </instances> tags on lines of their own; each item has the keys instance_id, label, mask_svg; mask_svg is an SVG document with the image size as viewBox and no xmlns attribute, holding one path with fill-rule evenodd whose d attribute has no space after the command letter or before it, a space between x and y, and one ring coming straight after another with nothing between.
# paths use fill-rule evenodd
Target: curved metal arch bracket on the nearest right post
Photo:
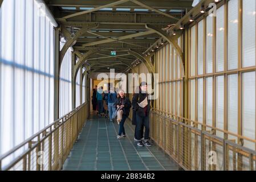
<instances>
[{"instance_id":1,"label":"curved metal arch bracket on the nearest right post","mask_svg":"<svg viewBox=\"0 0 256 182\"><path fill-rule=\"evenodd\" d=\"M165 40L168 41L168 43L170 45L173 46L173 48L175 49L175 51L177 52L178 56L180 57L180 60L182 61L182 65L184 65L184 54L181 51L180 46L178 46L178 44L175 42L174 38L172 36L170 36L169 34L167 34L165 31L161 30L160 28L157 28L155 26L152 26L150 24L146 24L146 28L148 30L153 30L155 31L157 34L159 34L160 36L162 36L162 38L164 38ZM183 70L184 70L184 66L183 66Z\"/></svg>"}]
</instances>

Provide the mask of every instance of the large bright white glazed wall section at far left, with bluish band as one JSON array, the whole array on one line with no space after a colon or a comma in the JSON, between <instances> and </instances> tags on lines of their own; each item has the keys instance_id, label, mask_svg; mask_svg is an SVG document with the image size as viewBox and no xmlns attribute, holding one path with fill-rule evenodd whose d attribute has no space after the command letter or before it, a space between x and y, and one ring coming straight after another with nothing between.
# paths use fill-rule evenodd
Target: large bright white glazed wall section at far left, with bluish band
<instances>
[{"instance_id":1,"label":"large bright white glazed wall section at far left, with bluish band","mask_svg":"<svg viewBox=\"0 0 256 182\"><path fill-rule=\"evenodd\" d=\"M34 0L0 14L1 155L54 121L54 28Z\"/></svg>"}]
</instances>

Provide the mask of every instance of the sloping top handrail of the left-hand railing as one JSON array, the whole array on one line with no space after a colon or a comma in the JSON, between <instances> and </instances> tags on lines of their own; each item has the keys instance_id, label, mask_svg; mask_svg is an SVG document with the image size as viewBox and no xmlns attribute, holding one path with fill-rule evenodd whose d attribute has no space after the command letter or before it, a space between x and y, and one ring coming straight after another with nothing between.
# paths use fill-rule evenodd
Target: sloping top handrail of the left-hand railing
<instances>
[{"instance_id":1,"label":"sloping top handrail of the left-hand railing","mask_svg":"<svg viewBox=\"0 0 256 182\"><path fill-rule=\"evenodd\" d=\"M36 147L38 147L38 144L40 144L40 142L43 142L47 137L50 137L56 130L58 130L62 125L64 125L64 123L66 123L66 121L68 121L68 119L70 119L72 116L74 116L76 113L78 113L78 111L82 110L83 107L85 107L87 104L88 104L88 102L85 102L84 104L76 107L74 110L70 111L66 115L63 115L56 121L52 122L50 125L44 127L44 129L38 131L36 134L32 135L30 138L26 139L22 143L18 144L14 148L12 148L10 151L7 151L5 154L1 155L0 156L0 171L10 169L17 162L21 161L23 159L23 157L25 157L26 155L29 154L29 152L31 152ZM54 127L54 128L52 129L52 127ZM50 130L50 131L47 132L47 130ZM40 137L40 136L42 136L42 137ZM37 139L37 140L33 141L34 139ZM23 151L21 155L19 155L17 158L15 158L9 164L7 164L7 167L2 168L2 161L4 159L6 159L8 156L14 154L14 152L18 151L20 148L26 147L27 144L29 145L28 149Z\"/></svg>"}]
</instances>

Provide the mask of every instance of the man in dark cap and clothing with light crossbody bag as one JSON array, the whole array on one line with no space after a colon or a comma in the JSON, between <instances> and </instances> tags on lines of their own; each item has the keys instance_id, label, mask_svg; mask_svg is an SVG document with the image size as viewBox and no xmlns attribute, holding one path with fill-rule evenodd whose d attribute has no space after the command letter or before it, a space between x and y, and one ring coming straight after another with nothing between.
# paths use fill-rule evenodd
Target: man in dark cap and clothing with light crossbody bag
<instances>
[{"instance_id":1,"label":"man in dark cap and clothing with light crossbody bag","mask_svg":"<svg viewBox=\"0 0 256 182\"><path fill-rule=\"evenodd\" d=\"M150 100L148 99L147 93L147 82L141 82L139 93L135 93L132 98L132 106L136 110L136 134L135 139L138 141L138 146L151 146L149 143L149 111ZM144 107L139 106L140 103L147 102ZM141 141L142 135L141 130L143 130L143 125L145 126L144 142Z\"/></svg>"}]
</instances>

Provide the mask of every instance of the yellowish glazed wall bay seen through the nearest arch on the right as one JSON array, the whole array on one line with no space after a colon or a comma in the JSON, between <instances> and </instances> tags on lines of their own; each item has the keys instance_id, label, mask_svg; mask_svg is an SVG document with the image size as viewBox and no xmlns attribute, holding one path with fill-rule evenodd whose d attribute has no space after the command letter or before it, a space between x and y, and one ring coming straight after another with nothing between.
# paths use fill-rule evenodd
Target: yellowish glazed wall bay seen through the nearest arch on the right
<instances>
[{"instance_id":1,"label":"yellowish glazed wall bay seen through the nearest arch on the right","mask_svg":"<svg viewBox=\"0 0 256 182\"><path fill-rule=\"evenodd\" d=\"M177 43L181 46L181 38L177 40ZM176 79L182 78L182 63L178 59L176 51L169 44L156 52L156 59L157 71L160 76L157 109L181 115L182 81Z\"/></svg>"}]
</instances>

